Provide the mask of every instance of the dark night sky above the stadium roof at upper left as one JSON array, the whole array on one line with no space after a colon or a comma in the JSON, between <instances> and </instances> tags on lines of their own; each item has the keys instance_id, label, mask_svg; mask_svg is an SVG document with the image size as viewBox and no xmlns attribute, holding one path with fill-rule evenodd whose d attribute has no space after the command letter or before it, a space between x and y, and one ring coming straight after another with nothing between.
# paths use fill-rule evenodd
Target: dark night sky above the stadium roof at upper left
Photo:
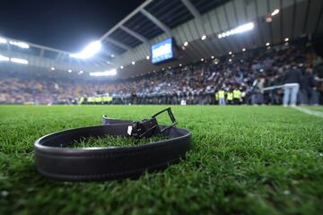
<instances>
[{"instance_id":1,"label":"dark night sky above the stadium roof at upper left","mask_svg":"<svg viewBox=\"0 0 323 215\"><path fill-rule=\"evenodd\" d=\"M80 51L144 0L1 0L0 36Z\"/></svg>"}]
</instances>

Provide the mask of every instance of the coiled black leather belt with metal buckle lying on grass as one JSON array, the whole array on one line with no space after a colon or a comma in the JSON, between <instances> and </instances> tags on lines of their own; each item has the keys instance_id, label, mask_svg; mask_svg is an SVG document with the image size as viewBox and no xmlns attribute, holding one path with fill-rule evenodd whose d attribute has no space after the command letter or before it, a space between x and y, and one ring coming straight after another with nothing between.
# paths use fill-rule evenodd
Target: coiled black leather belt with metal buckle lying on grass
<instances>
[{"instance_id":1,"label":"coiled black leather belt with metal buckle lying on grass","mask_svg":"<svg viewBox=\"0 0 323 215\"><path fill-rule=\"evenodd\" d=\"M156 116L168 111L172 125L158 125ZM186 156L191 133L174 127L170 108L143 121L109 119L103 125L51 133L35 142L35 163L43 176L66 181L92 181L140 176L144 171L167 168ZM144 138L156 134L168 139L136 146L68 148L69 144L88 137L105 135Z\"/></svg>"}]
</instances>

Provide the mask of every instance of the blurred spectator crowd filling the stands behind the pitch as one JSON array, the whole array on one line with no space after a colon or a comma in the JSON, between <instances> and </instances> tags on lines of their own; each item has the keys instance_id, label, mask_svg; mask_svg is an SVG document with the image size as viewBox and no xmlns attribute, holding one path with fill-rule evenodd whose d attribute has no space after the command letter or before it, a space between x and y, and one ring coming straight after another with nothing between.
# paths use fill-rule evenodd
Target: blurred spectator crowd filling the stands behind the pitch
<instances>
[{"instance_id":1,"label":"blurred spectator crowd filling the stands behind the pitch","mask_svg":"<svg viewBox=\"0 0 323 215\"><path fill-rule=\"evenodd\" d=\"M285 44L164 68L114 83L0 77L0 104L275 105L286 99L286 89L280 86L291 80L288 75L300 73L292 79L300 86L293 99L298 104L316 105L322 103L323 95L320 64L310 44ZM107 97L112 99L102 99Z\"/></svg>"}]
</instances>

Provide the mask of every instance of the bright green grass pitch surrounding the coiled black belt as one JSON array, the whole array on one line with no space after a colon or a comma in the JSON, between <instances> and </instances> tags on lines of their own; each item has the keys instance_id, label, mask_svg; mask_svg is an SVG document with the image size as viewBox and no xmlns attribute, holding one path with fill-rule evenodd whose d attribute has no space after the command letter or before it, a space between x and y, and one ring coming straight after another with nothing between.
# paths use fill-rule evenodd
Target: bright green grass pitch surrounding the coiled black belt
<instances>
[{"instance_id":1,"label":"bright green grass pitch surrounding the coiled black belt","mask_svg":"<svg viewBox=\"0 0 323 215\"><path fill-rule=\"evenodd\" d=\"M172 107L193 133L192 149L179 164L136 180L64 183L35 171L33 142L42 135L100 125L103 114L138 120L162 108L0 107L0 214L323 212L323 118L292 108ZM138 143L81 144L113 142Z\"/></svg>"}]
</instances>

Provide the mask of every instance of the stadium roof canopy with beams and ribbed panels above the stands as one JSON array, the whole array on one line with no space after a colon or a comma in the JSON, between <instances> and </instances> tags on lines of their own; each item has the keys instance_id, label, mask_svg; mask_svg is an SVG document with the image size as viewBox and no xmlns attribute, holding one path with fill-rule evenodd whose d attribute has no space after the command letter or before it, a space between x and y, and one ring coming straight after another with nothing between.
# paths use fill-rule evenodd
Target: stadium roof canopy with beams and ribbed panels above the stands
<instances>
[{"instance_id":1,"label":"stadium roof canopy with beams and ribbed panels above the stands","mask_svg":"<svg viewBox=\"0 0 323 215\"><path fill-rule=\"evenodd\" d=\"M32 64L55 64L62 70L73 67L93 72L118 68L117 77L127 78L240 52L243 48L265 47L283 43L284 39L318 34L323 30L322 11L321 0L146 0L102 35L103 51L91 59L72 59L65 51L30 43L31 48L23 57L30 58ZM253 30L218 37L249 22L254 23ZM203 36L206 39L202 40ZM151 64L146 59L150 46L168 37L174 38L179 46L178 59L158 66ZM15 51L1 50L0 44L0 53Z\"/></svg>"}]
</instances>

